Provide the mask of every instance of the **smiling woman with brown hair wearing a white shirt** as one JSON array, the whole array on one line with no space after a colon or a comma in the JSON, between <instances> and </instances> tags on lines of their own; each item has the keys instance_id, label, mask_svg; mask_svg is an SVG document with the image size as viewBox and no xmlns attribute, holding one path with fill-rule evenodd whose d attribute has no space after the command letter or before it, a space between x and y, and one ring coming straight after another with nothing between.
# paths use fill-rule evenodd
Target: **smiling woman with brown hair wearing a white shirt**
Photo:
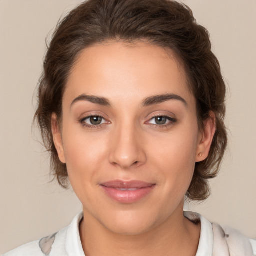
<instances>
[{"instance_id":1,"label":"smiling woman with brown hair wearing a white shirt","mask_svg":"<svg viewBox=\"0 0 256 256\"><path fill-rule=\"evenodd\" d=\"M35 114L52 168L83 205L6 255L252 255L192 212L226 147L225 84L207 31L166 0L89 0L58 25Z\"/></svg>"}]
</instances>

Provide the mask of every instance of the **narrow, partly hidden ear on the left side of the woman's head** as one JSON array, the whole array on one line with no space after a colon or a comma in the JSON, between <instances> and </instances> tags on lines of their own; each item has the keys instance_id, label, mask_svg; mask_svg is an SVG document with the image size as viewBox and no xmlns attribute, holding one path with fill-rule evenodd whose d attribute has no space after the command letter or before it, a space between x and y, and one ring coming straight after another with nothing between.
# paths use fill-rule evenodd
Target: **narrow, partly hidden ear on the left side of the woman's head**
<instances>
[{"instance_id":1,"label":"narrow, partly hidden ear on the left side of the woman's head","mask_svg":"<svg viewBox=\"0 0 256 256\"><path fill-rule=\"evenodd\" d=\"M62 142L62 135L61 130L59 128L59 125L57 123L57 115L55 113L52 113L51 115L51 132L53 136L53 141L55 148L58 152L58 158L62 163L65 163L65 155L63 150L63 142Z\"/></svg>"}]
</instances>

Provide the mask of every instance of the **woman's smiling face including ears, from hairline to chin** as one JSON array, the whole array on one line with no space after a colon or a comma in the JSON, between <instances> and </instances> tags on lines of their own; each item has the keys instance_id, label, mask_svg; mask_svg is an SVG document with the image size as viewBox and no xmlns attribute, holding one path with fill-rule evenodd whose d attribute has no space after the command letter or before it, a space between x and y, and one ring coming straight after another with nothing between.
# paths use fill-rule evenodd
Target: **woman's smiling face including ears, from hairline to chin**
<instances>
[{"instance_id":1,"label":"woman's smiling face including ears, from hairline to chin","mask_svg":"<svg viewBox=\"0 0 256 256\"><path fill-rule=\"evenodd\" d=\"M84 49L63 95L61 129L54 114L52 123L84 219L137 234L182 216L209 136L171 51L142 42Z\"/></svg>"}]
</instances>

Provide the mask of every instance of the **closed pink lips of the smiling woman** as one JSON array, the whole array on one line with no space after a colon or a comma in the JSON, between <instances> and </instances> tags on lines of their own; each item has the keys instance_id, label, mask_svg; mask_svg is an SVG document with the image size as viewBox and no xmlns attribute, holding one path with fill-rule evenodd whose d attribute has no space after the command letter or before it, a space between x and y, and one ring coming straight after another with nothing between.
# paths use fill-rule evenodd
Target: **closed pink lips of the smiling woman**
<instances>
[{"instance_id":1,"label":"closed pink lips of the smiling woman","mask_svg":"<svg viewBox=\"0 0 256 256\"><path fill-rule=\"evenodd\" d=\"M155 187L153 183L140 180L111 180L100 184L106 194L121 203L132 203L146 196Z\"/></svg>"}]
</instances>

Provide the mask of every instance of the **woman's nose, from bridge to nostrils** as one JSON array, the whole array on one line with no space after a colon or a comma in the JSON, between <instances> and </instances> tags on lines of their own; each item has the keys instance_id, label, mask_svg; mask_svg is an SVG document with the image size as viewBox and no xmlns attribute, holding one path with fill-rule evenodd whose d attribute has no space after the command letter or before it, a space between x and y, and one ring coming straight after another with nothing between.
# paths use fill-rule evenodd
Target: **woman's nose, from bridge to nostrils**
<instances>
[{"instance_id":1,"label":"woman's nose, from bridge to nostrils","mask_svg":"<svg viewBox=\"0 0 256 256\"><path fill-rule=\"evenodd\" d=\"M109 162L122 169L138 167L146 162L141 134L134 125L120 125L113 131Z\"/></svg>"}]
</instances>

